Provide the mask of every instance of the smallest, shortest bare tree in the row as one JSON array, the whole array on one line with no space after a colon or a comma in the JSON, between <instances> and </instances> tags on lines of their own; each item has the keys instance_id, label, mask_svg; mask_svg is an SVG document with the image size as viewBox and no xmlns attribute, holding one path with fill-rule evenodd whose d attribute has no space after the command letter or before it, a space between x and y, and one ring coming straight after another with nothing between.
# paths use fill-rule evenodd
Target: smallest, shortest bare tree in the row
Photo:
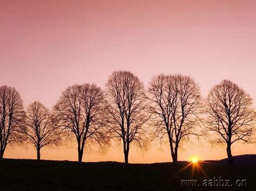
<instances>
[{"instance_id":1,"label":"smallest, shortest bare tree in the row","mask_svg":"<svg viewBox=\"0 0 256 191\"><path fill-rule=\"evenodd\" d=\"M33 102L28 106L22 133L26 140L35 146L37 160L40 160L42 147L57 145L60 140L60 133L50 111L40 102Z\"/></svg>"}]
</instances>

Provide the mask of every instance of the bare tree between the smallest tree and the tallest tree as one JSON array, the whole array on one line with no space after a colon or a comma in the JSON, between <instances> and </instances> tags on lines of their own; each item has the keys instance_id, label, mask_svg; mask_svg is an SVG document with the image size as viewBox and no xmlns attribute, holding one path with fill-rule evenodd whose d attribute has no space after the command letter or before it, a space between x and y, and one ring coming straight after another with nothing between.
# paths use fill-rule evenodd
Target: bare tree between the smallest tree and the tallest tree
<instances>
[{"instance_id":1,"label":"bare tree between the smallest tree and the tallest tree","mask_svg":"<svg viewBox=\"0 0 256 191\"><path fill-rule=\"evenodd\" d=\"M104 94L95 84L69 86L62 92L54 112L63 135L75 137L79 162L86 144L97 143L103 150L108 143Z\"/></svg>"}]
</instances>

